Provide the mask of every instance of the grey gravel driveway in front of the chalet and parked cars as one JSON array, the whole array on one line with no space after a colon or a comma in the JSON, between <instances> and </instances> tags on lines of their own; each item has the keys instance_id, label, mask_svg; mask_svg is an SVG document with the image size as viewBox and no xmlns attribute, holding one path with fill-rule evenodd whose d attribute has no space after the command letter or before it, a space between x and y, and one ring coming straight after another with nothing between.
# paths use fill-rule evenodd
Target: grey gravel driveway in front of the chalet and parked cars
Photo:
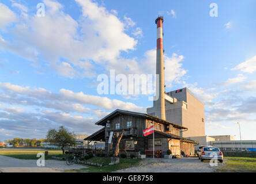
<instances>
[{"instance_id":1,"label":"grey gravel driveway in front of the chalet and parked cars","mask_svg":"<svg viewBox=\"0 0 256 184\"><path fill-rule=\"evenodd\" d=\"M218 162L218 166L222 163ZM216 167L214 167L216 168ZM209 161L201 162L198 158L179 159L144 159L140 166L130 167L115 173L211 173L214 170Z\"/></svg>"}]
</instances>

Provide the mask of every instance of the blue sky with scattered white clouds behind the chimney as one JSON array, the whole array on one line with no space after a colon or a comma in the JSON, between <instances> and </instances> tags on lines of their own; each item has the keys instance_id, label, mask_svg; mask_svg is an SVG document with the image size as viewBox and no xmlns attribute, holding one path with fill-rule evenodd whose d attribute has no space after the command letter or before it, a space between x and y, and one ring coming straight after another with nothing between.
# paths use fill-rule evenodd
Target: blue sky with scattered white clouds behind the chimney
<instances>
[{"instance_id":1,"label":"blue sky with scattered white clouds behind the chimney","mask_svg":"<svg viewBox=\"0 0 256 184\"><path fill-rule=\"evenodd\" d=\"M212 4L214 3L214 4ZM164 16L165 91L205 105L206 135L256 140L256 2L0 1L0 140L80 134L115 109L146 113L149 94L99 94L101 74L155 74ZM214 10L214 11L213 11Z\"/></svg>"}]
</instances>

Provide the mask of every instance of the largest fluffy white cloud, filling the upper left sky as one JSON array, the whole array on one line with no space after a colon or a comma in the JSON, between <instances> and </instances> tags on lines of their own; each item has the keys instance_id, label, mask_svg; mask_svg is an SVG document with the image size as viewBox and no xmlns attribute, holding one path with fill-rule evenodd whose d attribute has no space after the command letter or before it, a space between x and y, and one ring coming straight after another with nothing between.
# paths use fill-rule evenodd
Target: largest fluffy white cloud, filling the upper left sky
<instances>
[{"instance_id":1,"label":"largest fluffy white cloud, filling the upper left sky","mask_svg":"<svg viewBox=\"0 0 256 184\"><path fill-rule=\"evenodd\" d=\"M92 78L95 76L93 64L104 66L119 58L121 51L135 49L137 40L125 33L127 26L135 24L131 18L125 17L122 22L96 2L77 0L82 14L76 21L62 11L63 5L60 3L50 0L43 2L46 16L29 14L27 18L20 17L20 22L12 28L13 41L0 40L0 49L33 62L38 62L40 55L40 60L50 63L48 66L58 74L69 78ZM0 8L7 9L2 4ZM1 16L0 25L10 21L10 18Z\"/></svg>"}]
</instances>

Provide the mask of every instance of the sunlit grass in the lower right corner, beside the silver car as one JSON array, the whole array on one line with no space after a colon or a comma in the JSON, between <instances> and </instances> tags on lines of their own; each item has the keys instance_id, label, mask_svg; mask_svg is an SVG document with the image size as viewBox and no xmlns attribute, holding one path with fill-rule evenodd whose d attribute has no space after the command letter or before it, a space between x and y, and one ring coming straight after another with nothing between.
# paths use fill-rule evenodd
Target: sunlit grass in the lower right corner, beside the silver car
<instances>
[{"instance_id":1,"label":"sunlit grass in the lower right corner, beside the silver car","mask_svg":"<svg viewBox=\"0 0 256 184\"><path fill-rule=\"evenodd\" d=\"M216 172L256 172L256 158L248 157L225 157L223 166L216 169Z\"/></svg>"}]
</instances>

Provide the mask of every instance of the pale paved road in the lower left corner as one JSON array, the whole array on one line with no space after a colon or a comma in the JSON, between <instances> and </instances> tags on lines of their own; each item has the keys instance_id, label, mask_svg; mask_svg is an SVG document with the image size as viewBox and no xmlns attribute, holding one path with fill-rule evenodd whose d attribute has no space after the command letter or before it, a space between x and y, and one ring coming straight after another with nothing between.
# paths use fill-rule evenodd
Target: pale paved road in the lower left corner
<instances>
[{"instance_id":1,"label":"pale paved road in the lower left corner","mask_svg":"<svg viewBox=\"0 0 256 184\"><path fill-rule=\"evenodd\" d=\"M65 161L60 160L45 160L46 167L37 167L36 162L0 155L0 173L61 173L86 167L78 164L67 166Z\"/></svg>"}]
</instances>

